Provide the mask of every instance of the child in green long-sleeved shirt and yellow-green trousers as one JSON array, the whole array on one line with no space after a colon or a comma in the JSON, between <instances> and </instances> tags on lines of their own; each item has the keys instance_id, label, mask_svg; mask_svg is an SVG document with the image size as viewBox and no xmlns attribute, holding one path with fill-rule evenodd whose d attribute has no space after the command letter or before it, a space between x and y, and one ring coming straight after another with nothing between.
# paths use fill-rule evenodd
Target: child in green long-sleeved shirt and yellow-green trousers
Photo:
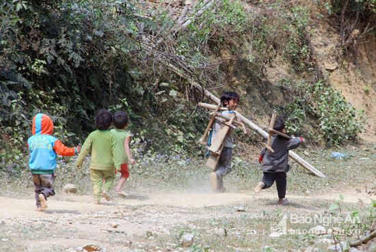
<instances>
[{"instance_id":1,"label":"child in green long-sleeved shirt and yellow-green trousers","mask_svg":"<svg viewBox=\"0 0 376 252\"><path fill-rule=\"evenodd\" d=\"M116 152L116 138L109 132L112 124L112 115L109 111L101 109L95 117L95 125L98 130L90 133L82 145L76 165L81 167L83 160L91 152L90 176L94 189L94 204L100 204L100 196L103 195L107 201L109 190L115 180L115 167L119 162L118 152ZM105 184L103 185L103 180ZM103 189L102 189L103 186Z\"/></svg>"}]
</instances>

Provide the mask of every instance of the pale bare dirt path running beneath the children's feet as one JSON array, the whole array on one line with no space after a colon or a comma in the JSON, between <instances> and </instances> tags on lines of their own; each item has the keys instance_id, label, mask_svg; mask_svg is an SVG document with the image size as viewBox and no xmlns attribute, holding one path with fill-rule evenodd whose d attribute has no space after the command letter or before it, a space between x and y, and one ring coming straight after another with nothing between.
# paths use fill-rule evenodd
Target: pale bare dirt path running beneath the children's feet
<instances>
[{"instance_id":1,"label":"pale bare dirt path running beneath the children's feet","mask_svg":"<svg viewBox=\"0 0 376 252\"><path fill-rule=\"evenodd\" d=\"M325 195L288 195L288 199L293 202L301 200L328 200L338 201L340 195L344 196L344 203L356 204L360 200L364 203L371 203L371 200L357 193L356 191L344 191L338 193L327 193ZM276 193L271 191L262 191L260 195L253 193L138 193L131 194L129 197L114 197L113 201L102 201L102 205L94 205L91 196L78 196L66 193L57 195L58 200L49 198L49 209L46 212L33 211L35 208L34 199L13 199L0 197L2 208L0 208L0 219L7 217L33 217L40 214L62 214L62 213L80 213L87 214L101 210L113 210L116 208L132 206L155 206L155 208L169 206L176 208L211 208L215 206L237 206L238 204L251 204L252 201L266 199L273 201L276 199Z\"/></svg>"}]
</instances>

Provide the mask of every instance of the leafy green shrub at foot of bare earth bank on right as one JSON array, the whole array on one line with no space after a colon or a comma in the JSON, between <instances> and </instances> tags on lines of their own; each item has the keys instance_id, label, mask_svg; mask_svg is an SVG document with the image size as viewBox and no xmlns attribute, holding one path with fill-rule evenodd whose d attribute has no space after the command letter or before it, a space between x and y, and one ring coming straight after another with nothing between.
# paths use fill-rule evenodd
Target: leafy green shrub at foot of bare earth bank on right
<instances>
[{"instance_id":1,"label":"leafy green shrub at foot of bare earth bank on right","mask_svg":"<svg viewBox=\"0 0 376 252\"><path fill-rule=\"evenodd\" d=\"M362 131L364 111L355 111L339 90L321 81L306 83L299 81L294 85L295 98L286 107L286 130L298 132L308 117L318 124L310 135L322 139L327 145L339 145L355 139Z\"/></svg>"}]
</instances>

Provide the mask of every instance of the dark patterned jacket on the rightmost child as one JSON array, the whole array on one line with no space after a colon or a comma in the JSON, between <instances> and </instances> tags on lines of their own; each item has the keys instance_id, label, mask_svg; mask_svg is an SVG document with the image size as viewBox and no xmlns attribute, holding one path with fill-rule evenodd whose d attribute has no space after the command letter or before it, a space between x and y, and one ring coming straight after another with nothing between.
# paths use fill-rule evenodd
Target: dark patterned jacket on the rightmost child
<instances>
[{"instance_id":1,"label":"dark patterned jacket on the rightmost child","mask_svg":"<svg viewBox=\"0 0 376 252\"><path fill-rule=\"evenodd\" d=\"M263 160L264 172L287 172L291 167L288 165L288 151L299 147L303 142L301 137L287 139L280 135L273 135L271 137L270 147L274 152L269 152L267 148L263 148L260 153L260 160Z\"/></svg>"}]
</instances>

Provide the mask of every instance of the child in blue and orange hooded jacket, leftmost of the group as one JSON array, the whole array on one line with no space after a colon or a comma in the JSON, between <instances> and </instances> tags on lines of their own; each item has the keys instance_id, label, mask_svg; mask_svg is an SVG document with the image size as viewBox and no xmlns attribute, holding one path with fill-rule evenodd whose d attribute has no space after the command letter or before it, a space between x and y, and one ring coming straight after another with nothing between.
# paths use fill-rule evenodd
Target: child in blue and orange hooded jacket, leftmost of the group
<instances>
[{"instance_id":1,"label":"child in blue and orange hooded jacket, leftmost of the group","mask_svg":"<svg viewBox=\"0 0 376 252\"><path fill-rule=\"evenodd\" d=\"M48 115L38 114L33 117L33 135L27 139L30 152L29 169L35 186L37 211L47 209L47 197L55 195L56 158L74 156L81 151L81 147L66 147L59 139L51 136L53 122Z\"/></svg>"}]
</instances>

